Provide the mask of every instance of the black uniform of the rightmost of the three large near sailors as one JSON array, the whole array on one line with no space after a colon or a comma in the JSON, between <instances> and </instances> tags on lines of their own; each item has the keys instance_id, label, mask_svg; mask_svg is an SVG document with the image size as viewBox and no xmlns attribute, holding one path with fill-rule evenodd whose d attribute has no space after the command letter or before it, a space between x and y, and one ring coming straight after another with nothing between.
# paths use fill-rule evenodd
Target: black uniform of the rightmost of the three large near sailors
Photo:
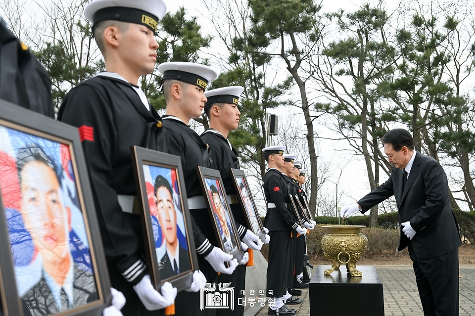
<instances>
[{"instance_id":1,"label":"black uniform of the rightmost of the three large near sailors","mask_svg":"<svg viewBox=\"0 0 475 316\"><path fill-rule=\"evenodd\" d=\"M238 152L233 148L233 146L228 141L228 139L215 129L209 129L205 131L203 134L201 134L201 138L206 143L208 143L210 147L210 150L213 155L215 168L219 170L221 174L221 178L223 179L226 194L236 195L237 192L233 184L233 179L231 176L230 169L231 168L239 169ZM244 217L244 212L240 204L238 204L237 200L234 199L233 201L228 201L228 202L230 202L231 212L233 213L234 219L236 221L239 238L242 239L244 238L244 235L246 234L247 229L249 229L250 227L246 227L240 224L240 223L246 224L247 222ZM238 267L236 267L236 270L231 275L221 273L218 276L218 282L221 282L221 283L231 282L231 286L235 288L234 290L235 304L234 304L234 311L225 310L225 309L217 310L216 316L243 315L244 305L241 303L241 301L245 299L245 296L241 294L241 291L245 290L245 285L246 285L246 265L238 265Z\"/></svg>"}]
</instances>

